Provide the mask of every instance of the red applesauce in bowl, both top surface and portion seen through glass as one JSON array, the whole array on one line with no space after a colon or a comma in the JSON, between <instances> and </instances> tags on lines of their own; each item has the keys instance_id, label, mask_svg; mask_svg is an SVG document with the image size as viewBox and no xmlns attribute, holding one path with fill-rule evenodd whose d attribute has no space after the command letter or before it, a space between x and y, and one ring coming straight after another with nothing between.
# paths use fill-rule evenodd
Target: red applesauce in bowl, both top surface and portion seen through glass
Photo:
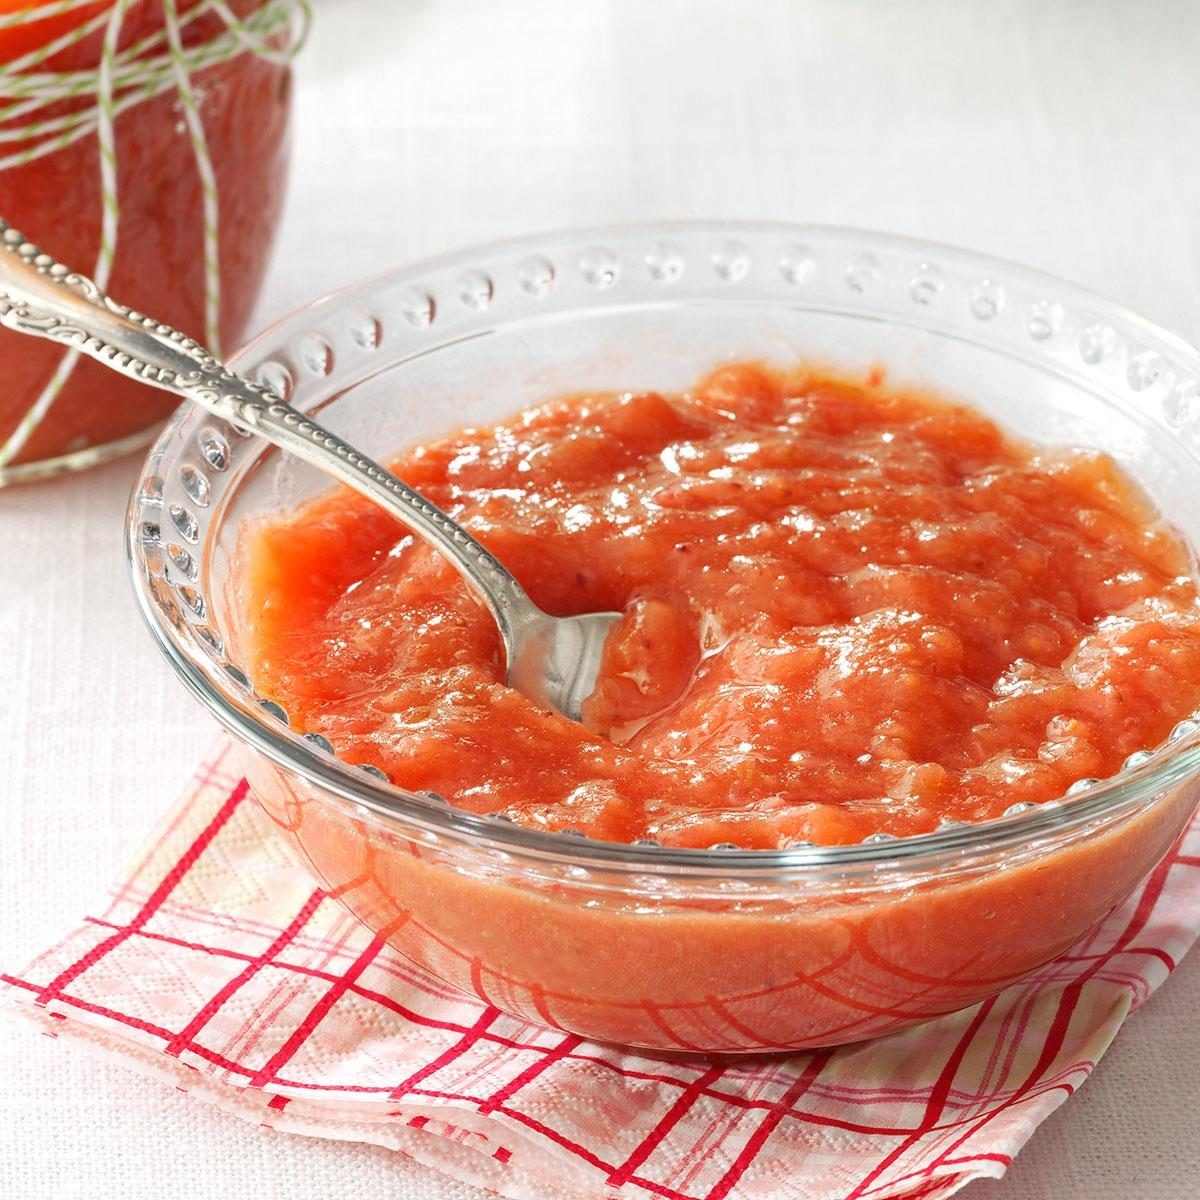
<instances>
[{"instance_id":1,"label":"red applesauce in bowl, both top surface and portion seen through glass","mask_svg":"<svg viewBox=\"0 0 1200 1200\"><path fill-rule=\"evenodd\" d=\"M570 396L398 469L551 612L626 614L584 724L508 689L458 576L347 491L241 527L235 652L293 727L474 812L667 846L858 842L1057 798L1200 701L1188 552L1114 464L877 376L743 364L685 395ZM1000 848L684 871L422 830L244 763L324 887L420 967L532 1021L706 1054L994 995L1120 905L1198 791Z\"/></svg>"}]
</instances>

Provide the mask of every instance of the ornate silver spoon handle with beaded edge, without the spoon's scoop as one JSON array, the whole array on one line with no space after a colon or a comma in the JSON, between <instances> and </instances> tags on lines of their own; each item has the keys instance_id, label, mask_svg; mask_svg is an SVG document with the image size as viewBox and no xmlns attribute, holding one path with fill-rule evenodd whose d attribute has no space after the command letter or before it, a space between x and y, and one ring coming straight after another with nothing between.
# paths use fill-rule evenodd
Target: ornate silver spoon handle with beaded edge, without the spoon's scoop
<instances>
[{"instance_id":1,"label":"ornate silver spoon handle with beaded edge, without the spoon's scoop","mask_svg":"<svg viewBox=\"0 0 1200 1200\"><path fill-rule=\"evenodd\" d=\"M437 505L377 462L229 371L169 325L116 304L0 218L0 324L60 342L104 366L253 430L380 504L450 560L494 613L511 650L533 602L509 571Z\"/></svg>"}]
</instances>

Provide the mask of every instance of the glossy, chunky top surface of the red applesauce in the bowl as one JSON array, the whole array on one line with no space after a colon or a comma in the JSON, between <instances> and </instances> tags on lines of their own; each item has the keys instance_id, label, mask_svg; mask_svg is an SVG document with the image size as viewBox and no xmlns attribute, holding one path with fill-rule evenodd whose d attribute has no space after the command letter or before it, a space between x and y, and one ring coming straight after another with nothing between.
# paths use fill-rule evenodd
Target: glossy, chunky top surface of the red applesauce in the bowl
<instances>
[{"instance_id":1,"label":"glossy, chunky top surface of the red applesauce in the bowl","mask_svg":"<svg viewBox=\"0 0 1200 1200\"><path fill-rule=\"evenodd\" d=\"M259 691L474 812L668 846L902 836L1111 775L1200 703L1188 552L1116 466L880 378L727 366L397 469L547 611L626 614L578 725L505 686L491 617L368 502L245 532Z\"/></svg>"}]
</instances>

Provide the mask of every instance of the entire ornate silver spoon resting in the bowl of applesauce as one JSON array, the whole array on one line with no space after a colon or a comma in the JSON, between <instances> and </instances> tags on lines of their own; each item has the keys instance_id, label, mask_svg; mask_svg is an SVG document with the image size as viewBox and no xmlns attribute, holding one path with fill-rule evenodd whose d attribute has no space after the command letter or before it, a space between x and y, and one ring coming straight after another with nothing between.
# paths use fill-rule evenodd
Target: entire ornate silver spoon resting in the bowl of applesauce
<instances>
[{"instance_id":1,"label":"entire ornate silver spoon resting in the bowl of applesauce","mask_svg":"<svg viewBox=\"0 0 1200 1200\"><path fill-rule=\"evenodd\" d=\"M191 338L110 300L2 218L0 324L61 342L113 371L191 400L374 500L446 558L491 612L504 642L509 684L580 719L580 706L595 688L605 636L620 613L542 612L487 550L420 492Z\"/></svg>"}]
</instances>

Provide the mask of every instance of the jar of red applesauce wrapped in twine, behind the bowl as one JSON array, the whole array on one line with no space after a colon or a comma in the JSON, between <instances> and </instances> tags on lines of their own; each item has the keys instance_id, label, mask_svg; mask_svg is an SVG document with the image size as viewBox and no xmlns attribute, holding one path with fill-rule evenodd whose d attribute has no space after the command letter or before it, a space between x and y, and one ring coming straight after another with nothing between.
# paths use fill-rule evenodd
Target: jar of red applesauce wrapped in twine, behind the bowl
<instances>
[{"instance_id":1,"label":"jar of red applesauce wrapped in twine, behind the bowl","mask_svg":"<svg viewBox=\"0 0 1200 1200\"><path fill-rule=\"evenodd\" d=\"M305 0L0 0L0 217L122 304L238 344L283 200ZM0 329L0 485L148 442L176 401Z\"/></svg>"}]
</instances>

